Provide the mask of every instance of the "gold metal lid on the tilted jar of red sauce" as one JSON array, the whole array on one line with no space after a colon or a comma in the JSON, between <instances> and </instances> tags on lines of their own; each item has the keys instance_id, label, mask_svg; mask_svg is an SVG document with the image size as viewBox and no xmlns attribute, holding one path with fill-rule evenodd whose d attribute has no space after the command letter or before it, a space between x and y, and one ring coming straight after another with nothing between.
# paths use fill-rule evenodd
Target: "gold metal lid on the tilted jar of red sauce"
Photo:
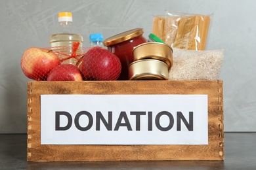
<instances>
[{"instance_id":1,"label":"gold metal lid on the tilted jar of red sauce","mask_svg":"<svg viewBox=\"0 0 256 170\"><path fill-rule=\"evenodd\" d=\"M109 37L108 39L105 39L103 44L104 46L114 45L123 41L127 41L129 39L133 39L134 37L138 37L143 33L144 33L144 30L142 28L131 29L129 31L125 31L123 33L119 33L117 35Z\"/></svg>"}]
</instances>

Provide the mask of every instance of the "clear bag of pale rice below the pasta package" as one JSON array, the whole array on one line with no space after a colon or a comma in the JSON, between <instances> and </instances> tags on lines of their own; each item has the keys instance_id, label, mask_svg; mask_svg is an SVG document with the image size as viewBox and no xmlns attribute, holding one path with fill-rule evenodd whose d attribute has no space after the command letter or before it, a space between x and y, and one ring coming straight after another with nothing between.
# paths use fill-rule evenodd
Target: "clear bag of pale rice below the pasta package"
<instances>
[{"instance_id":1,"label":"clear bag of pale rice below the pasta package","mask_svg":"<svg viewBox=\"0 0 256 170\"><path fill-rule=\"evenodd\" d=\"M183 50L173 48L169 80L217 80L224 50Z\"/></svg>"}]
</instances>

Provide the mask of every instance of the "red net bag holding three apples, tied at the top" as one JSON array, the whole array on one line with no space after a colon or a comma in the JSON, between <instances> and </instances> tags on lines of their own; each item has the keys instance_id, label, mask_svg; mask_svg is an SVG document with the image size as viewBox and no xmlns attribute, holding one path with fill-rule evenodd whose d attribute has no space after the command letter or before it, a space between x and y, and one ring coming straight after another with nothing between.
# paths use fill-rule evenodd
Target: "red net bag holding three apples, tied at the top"
<instances>
[{"instance_id":1,"label":"red net bag holding three apples, tied at the top","mask_svg":"<svg viewBox=\"0 0 256 170\"><path fill-rule=\"evenodd\" d=\"M24 75L37 81L83 81L116 80L121 73L119 58L105 48L72 48L69 55L65 50L70 49L28 48L20 63Z\"/></svg>"}]
</instances>

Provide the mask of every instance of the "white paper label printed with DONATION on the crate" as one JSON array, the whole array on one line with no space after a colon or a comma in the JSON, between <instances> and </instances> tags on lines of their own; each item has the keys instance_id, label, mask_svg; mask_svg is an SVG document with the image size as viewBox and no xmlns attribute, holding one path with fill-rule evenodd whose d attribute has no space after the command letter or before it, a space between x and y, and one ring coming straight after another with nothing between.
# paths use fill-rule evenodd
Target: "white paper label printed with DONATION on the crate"
<instances>
[{"instance_id":1,"label":"white paper label printed with DONATION on the crate","mask_svg":"<svg viewBox=\"0 0 256 170\"><path fill-rule=\"evenodd\" d=\"M41 144L208 144L207 95L41 95Z\"/></svg>"}]
</instances>

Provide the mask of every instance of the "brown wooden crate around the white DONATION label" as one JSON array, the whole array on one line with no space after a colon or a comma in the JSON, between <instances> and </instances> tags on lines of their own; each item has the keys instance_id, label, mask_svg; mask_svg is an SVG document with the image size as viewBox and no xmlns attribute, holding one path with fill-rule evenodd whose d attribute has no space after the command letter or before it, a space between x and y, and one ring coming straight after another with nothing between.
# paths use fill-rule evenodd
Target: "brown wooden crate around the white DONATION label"
<instances>
[{"instance_id":1,"label":"brown wooden crate around the white DONATION label","mask_svg":"<svg viewBox=\"0 0 256 170\"><path fill-rule=\"evenodd\" d=\"M41 95L206 94L207 144L41 144ZM224 160L222 80L28 82L27 161Z\"/></svg>"}]
</instances>

